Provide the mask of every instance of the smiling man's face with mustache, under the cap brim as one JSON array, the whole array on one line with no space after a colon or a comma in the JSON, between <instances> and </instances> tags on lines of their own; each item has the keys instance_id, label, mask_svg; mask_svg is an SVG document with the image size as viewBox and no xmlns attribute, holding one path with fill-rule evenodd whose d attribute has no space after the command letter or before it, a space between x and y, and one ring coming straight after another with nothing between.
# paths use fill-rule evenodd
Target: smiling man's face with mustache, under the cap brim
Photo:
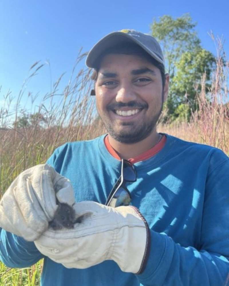
<instances>
[{"instance_id":1,"label":"smiling man's face with mustache, under the cap brim","mask_svg":"<svg viewBox=\"0 0 229 286\"><path fill-rule=\"evenodd\" d=\"M127 144L148 137L156 126L168 76L162 89L160 70L136 55L109 54L101 62L95 83L96 106L106 130Z\"/></svg>"}]
</instances>

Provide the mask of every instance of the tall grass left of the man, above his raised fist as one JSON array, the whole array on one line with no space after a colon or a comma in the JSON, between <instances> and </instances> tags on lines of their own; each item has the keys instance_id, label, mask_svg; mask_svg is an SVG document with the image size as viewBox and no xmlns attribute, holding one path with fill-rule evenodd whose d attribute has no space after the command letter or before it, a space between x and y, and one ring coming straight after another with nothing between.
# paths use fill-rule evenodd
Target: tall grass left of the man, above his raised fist
<instances>
[{"instance_id":1,"label":"tall grass left of the man, above his raised fist","mask_svg":"<svg viewBox=\"0 0 229 286\"><path fill-rule=\"evenodd\" d=\"M91 71L80 69L75 72L84 57L85 54L79 55L62 92L59 85L63 75L54 83L52 91L44 95L40 105L36 103L30 125L18 125L20 118L28 113L25 106L21 106L28 79L15 106L11 106L13 99L10 93L5 96L5 106L0 110L0 197L13 178L31 166L44 163L58 146L69 141L91 139L104 132L101 122L95 117L95 100L90 97ZM37 67L37 64L32 65L29 78L42 68L43 65ZM29 93L27 100L30 98ZM34 102L32 99L31 104Z\"/></svg>"}]
</instances>

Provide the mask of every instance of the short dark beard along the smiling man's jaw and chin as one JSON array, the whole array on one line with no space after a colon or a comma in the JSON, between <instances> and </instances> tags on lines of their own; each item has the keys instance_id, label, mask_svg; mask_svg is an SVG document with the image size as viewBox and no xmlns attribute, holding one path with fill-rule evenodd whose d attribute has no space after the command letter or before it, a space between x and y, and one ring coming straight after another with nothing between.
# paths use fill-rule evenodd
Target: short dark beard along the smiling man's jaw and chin
<instances>
[{"instance_id":1,"label":"short dark beard along the smiling man's jaw and chin","mask_svg":"<svg viewBox=\"0 0 229 286\"><path fill-rule=\"evenodd\" d=\"M133 107L133 104L132 105L127 104L126 106ZM140 142L141 140L147 138L151 134L152 130L157 125L157 121L161 115L162 107L163 107L163 104L161 104L161 108L159 112L155 114L149 122L142 122L140 126L137 126L135 128L134 128L134 124L136 124L136 122L133 122L133 123L123 122L122 124L123 126L125 125L133 126L133 128L129 128L129 131L115 130L114 126L111 124L109 119L107 120L107 118L101 118L101 116L100 118L102 119L107 132L112 138L114 138L115 140L121 143L133 144L133 143ZM147 108L148 108L148 105L147 105Z\"/></svg>"}]
</instances>

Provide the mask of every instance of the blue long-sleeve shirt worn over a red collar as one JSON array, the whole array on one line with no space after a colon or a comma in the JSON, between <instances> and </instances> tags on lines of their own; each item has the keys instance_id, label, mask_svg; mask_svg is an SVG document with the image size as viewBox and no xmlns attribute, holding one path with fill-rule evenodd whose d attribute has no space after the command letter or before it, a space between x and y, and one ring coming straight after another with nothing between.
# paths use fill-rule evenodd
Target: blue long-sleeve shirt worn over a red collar
<instances>
[{"instance_id":1,"label":"blue long-sleeve shirt worn over a red collar","mask_svg":"<svg viewBox=\"0 0 229 286\"><path fill-rule=\"evenodd\" d=\"M151 233L143 273L124 273L114 261L67 269L44 257L42 286L227 285L229 158L217 148L166 136L159 153L134 164L137 181L128 185L132 204ZM102 204L121 169L121 162L106 149L104 136L66 143L48 164L70 179L76 201ZM26 267L43 256L34 243L1 230L0 257L9 267Z\"/></svg>"}]
</instances>

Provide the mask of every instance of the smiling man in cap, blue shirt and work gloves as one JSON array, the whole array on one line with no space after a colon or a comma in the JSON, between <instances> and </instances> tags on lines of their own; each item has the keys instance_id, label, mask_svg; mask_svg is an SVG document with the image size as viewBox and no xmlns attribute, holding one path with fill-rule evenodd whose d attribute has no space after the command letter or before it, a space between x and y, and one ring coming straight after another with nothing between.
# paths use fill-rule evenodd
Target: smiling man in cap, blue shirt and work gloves
<instances>
[{"instance_id":1,"label":"smiling man in cap, blue shirt and work gloves","mask_svg":"<svg viewBox=\"0 0 229 286\"><path fill-rule=\"evenodd\" d=\"M0 204L2 261L44 257L42 285L227 285L229 159L157 133L169 87L159 44L134 30L110 33L86 64L108 134L48 159L73 196L48 165L13 182ZM74 229L48 228L56 196L82 217Z\"/></svg>"}]
</instances>

